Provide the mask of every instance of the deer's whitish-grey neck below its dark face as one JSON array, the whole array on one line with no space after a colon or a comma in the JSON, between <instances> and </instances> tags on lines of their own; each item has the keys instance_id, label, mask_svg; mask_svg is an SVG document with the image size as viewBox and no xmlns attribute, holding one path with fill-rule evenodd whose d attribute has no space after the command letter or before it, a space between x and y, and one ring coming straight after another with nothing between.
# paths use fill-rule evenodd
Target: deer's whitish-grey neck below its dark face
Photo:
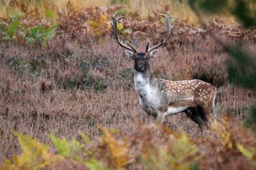
<instances>
[{"instance_id":1,"label":"deer's whitish-grey neck below its dark face","mask_svg":"<svg viewBox=\"0 0 256 170\"><path fill-rule=\"evenodd\" d=\"M156 95L159 86L150 66L145 71L134 70L135 89L141 98Z\"/></svg>"}]
</instances>

